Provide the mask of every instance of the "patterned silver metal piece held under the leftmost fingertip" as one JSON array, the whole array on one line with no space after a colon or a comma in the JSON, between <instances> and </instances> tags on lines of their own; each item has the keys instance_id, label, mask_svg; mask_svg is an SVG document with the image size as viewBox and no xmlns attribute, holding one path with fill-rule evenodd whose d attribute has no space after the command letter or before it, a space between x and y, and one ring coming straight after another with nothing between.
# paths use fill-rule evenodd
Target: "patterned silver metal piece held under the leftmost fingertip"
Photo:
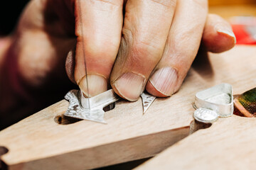
<instances>
[{"instance_id":1,"label":"patterned silver metal piece held under the leftmost fingertip","mask_svg":"<svg viewBox=\"0 0 256 170\"><path fill-rule=\"evenodd\" d=\"M65 95L65 99L70 103L68 110L64 113L65 116L106 123L103 108L118 101L119 96L110 89L92 98L85 98L81 91L72 90Z\"/></svg>"}]
</instances>

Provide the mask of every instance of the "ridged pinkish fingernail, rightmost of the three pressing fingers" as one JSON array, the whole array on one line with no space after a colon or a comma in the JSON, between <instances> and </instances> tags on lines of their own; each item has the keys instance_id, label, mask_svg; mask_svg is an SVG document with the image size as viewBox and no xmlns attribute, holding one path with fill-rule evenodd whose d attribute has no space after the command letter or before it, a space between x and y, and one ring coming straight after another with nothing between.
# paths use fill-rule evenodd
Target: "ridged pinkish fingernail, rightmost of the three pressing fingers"
<instances>
[{"instance_id":1,"label":"ridged pinkish fingernail, rightmost of the three pressing fingers","mask_svg":"<svg viewBox=\"0 0 256 170\"><path fill-rule=\"evenodd\" d=\"M154 74L150 77L149 81L161 94L171 96L174 94L177 79L178 76L176 69L165 67L156 70L156 72L154 72Z\"/></svg>"}]
</instances>

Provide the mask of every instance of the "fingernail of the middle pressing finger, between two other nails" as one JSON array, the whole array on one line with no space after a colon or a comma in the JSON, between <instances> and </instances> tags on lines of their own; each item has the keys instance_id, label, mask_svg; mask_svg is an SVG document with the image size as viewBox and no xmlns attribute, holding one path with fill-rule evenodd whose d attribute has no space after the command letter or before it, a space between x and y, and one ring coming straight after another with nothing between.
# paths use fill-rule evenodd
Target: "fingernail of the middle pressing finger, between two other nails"
<instances>
[{"instance_id":1,"label":"fingernail of the middle pressing finger, between two other nails","mask_svg":"<svg viewBox=\"0 0 256 170\"><path fill-rule=\"evenodd\" d=\"M145 86L146 79L139 74L127 72L114 82L119 94L129 101L137 101Z\"/></svg>"}]
</instances>

